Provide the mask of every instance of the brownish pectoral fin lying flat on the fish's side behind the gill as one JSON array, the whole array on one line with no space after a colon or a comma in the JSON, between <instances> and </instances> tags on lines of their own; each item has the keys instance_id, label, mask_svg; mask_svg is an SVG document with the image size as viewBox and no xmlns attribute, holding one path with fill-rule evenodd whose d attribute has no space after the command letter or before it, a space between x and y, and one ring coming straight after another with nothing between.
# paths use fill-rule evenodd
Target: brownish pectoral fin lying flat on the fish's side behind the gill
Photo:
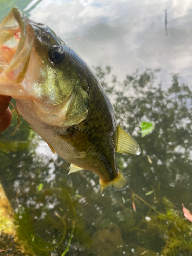
<instances>
[{"instance_id":1,"label":"brownish pectoral fin lying flat on the fish's side behind the gill","mask_svg":"<svg viewBox=\"0 0 192 256\"><path fill-rule=\"evenodd\" d=\"M88 135L73 126L68 128L68 133L66 135L61 135L61 137L78 151L84 151L91 146Z\"/></svg>"}]
</instances>

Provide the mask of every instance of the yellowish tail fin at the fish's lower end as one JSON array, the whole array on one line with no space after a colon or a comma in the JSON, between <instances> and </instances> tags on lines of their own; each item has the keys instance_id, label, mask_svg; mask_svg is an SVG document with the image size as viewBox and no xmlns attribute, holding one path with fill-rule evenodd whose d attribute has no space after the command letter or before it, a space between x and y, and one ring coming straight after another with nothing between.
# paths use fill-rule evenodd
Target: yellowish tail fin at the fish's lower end
<instances>
[{"instance_id":1,"label":"yellowish tail fin at the fish's lower end","mask_svg":"<svg viewBox=\"0 0 192 256\"><path fill-rule=\"evenodd\" d=\"M99 179L99 184L101 188L101 195L103 195L104 190L108 187L114 187L116 190L122 190L126 188L128 186L128 181L119 170L119 173L114 180L109 182L104 182L101 179Z\"/></svg>"}]
</instances>

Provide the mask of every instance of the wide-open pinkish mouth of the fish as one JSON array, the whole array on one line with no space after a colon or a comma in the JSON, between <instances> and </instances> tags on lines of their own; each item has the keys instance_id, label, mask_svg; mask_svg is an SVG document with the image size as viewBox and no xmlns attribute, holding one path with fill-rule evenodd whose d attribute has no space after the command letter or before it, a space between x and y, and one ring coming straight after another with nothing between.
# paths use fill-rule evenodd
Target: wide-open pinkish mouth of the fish
<instances>
[{"instance_id":1,"label":"wide-open pinkish mouth of the fish","mask_svg":"<svg viewBox=\"0 0 192 256\"><path fill-rule=\"evenodd\" d=\"M0 83L20 83L28 67L33 43L28 19L16 7L0 23Z\"/></svg>"}]
</instances>

